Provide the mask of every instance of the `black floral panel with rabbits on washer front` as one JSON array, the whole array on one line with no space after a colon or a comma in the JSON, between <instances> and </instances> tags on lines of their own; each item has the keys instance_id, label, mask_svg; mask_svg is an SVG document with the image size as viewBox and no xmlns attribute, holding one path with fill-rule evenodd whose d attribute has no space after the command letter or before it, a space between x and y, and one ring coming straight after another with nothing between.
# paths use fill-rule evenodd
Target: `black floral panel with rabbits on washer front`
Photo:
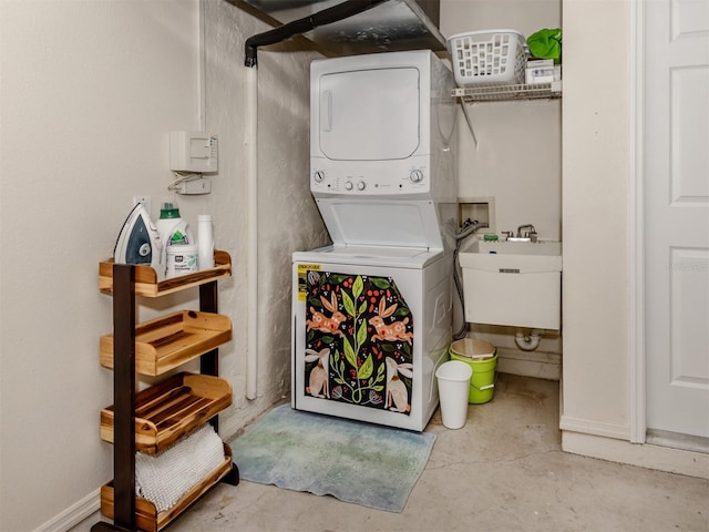
<instances>
[{"instance_id":1,"label":"black floral panel with rabbits on washer front","mask_svg":"<svg viewBox=\"0 0 709 532\"><path fill-rule=\"evenodd\" d=\"M307 272L306 395L409 415L413 318L390 277Z\"/></svg>"}]
</instances>

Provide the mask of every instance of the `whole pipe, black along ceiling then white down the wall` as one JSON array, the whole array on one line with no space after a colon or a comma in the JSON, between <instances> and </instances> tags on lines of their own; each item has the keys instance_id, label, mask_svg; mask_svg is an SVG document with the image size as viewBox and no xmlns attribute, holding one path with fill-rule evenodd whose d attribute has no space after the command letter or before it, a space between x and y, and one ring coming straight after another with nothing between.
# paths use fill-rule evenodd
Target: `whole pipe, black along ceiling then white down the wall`
<instances>
[{"instance_id":1,"label":"whole pipe, black along ceiling then white down the wall","mask_svg":"<svg viewBox=\"0 0 709 532\"><path fill-rule=\"evenodd\" d=\"M348 0L309 17L294 20L264 33L249 37L245 43L246 74L246 182L248 197L248 264L250 277L247 294L246 398L258 397L258 73L257 49L290 39L318 25L329 24L361 13L388 0Z\"/></svg>"}]
</instances>

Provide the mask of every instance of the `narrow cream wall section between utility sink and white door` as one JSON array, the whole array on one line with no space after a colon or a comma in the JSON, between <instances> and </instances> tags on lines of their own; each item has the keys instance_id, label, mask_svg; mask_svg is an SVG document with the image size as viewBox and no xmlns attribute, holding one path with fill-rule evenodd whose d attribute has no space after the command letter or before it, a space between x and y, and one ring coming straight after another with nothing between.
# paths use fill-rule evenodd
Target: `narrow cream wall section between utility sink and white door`
<instances>
[{"instance_id":1,"label":"narrow cream wall section between utility sink and white door","mask_svg":"<svg viewBox=\"0 0 709 532\"><path fill-rule=\"evenodd\" d=\"M562 427L628 438L629 2L564 2ZM583 38L588 28L594 39ZM598 53L597 43L613 53Z\"/></svg>"}]
</instances>

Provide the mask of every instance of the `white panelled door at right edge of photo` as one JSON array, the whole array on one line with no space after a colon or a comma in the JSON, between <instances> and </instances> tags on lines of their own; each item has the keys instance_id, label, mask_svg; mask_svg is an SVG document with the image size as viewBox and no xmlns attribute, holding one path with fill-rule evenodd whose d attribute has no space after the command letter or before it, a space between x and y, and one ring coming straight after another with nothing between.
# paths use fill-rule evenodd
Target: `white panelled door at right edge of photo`
<instances>
[{"instance_id":1,"label":"white panelled door at right edge of photo","mask_svg":"<svg viewBox=\"0 0 709 532\"><path fill-rule=\"evenodd\" d=\"M709 0L647 0L647 428L709 437Z\"/></svg>"}]
</instances>

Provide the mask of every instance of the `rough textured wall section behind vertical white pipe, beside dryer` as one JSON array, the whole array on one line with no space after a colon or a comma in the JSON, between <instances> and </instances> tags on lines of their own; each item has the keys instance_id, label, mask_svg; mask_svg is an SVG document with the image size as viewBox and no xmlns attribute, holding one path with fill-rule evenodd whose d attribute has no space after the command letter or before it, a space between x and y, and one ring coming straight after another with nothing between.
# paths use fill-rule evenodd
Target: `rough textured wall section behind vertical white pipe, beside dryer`
<instances>
[{"instance_id":1,"label":"rough textured wall section behind vertical white pipe, beside dryer","mask_svg":"<svg viewBox=\"0 0 709 532\"><path fill-rule=\"evenodd\" d=\"M234 387L234 406L220 415L233 436L290 389L290 267L296 249L325 244L327 232L309 188L309 64L314 52L258 52L259 272L247 272L246 66L244 42L268 30L234 6L205 2L207 127L219 133L219 177L213 208L222 219L217 244L234 249L235 289L220 294L234 341L222 348L220 374ZM282 47L282 45L281 45ZM224 174L224 175L222 175ZM247 287L259 287L257 399L245 397Z\"/></svg>"}]
</instances>

